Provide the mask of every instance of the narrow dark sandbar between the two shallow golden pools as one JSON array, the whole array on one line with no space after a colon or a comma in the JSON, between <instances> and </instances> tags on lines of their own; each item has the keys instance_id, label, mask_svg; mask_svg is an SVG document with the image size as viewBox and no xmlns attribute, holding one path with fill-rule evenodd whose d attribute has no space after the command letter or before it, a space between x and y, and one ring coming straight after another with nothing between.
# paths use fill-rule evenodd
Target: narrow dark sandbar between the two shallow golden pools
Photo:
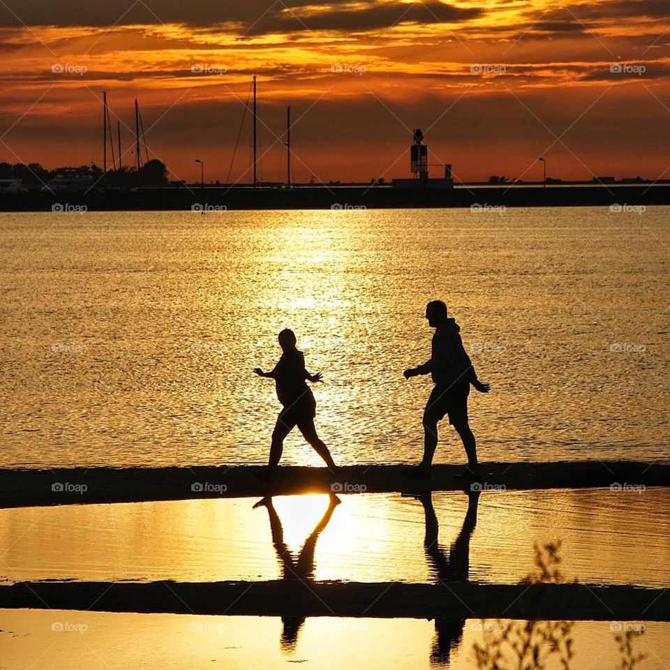
<instances>
[{"instance_id":1,"label":"narrow dark sandbar between the two shallow golden pools","mask_svg":"<svg viewBox=\"0 0 670 670\"><path fill-rule=\"evenodd\" d=\"M0 586L0 608L246 616L516 618L670 621L660 588L566 584L438 586L300 579L186 583L20 582Z\"/></svg>"}]
</instances>

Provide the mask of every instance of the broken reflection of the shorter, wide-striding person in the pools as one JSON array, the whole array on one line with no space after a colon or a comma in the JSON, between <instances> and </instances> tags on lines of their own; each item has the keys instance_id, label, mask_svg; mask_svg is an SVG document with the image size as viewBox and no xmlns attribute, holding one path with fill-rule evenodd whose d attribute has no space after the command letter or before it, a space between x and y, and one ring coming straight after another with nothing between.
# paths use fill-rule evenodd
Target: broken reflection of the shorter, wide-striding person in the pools
<instances>
[{"instance_id":1,"label":"broken reflection of the shorter, wide-striding person in the pools","mask_svg":"<svg viewBox=\"0 0 670 670\"><path fill-rule=\"evenodd\" d=\"M290 549L284 544L284 529L281 525L281 519L274 509L272 497L268 496L259 500L253 507L265 507L270 519L270 530L272 533L272 544L277 554L277 560L281 567L281 579L314 579L314 552L316 541L319 539L321 531L328 525L335 508L341 500L330 493L328 509L316 524L311 535L305 540L298 556L293 556ZM281 632L281 649L285 652L293 652L298 641L298 634L302 625L305 623L304 616L283 616L281 618L283 630Z\"/></svg>"}]
</instances>

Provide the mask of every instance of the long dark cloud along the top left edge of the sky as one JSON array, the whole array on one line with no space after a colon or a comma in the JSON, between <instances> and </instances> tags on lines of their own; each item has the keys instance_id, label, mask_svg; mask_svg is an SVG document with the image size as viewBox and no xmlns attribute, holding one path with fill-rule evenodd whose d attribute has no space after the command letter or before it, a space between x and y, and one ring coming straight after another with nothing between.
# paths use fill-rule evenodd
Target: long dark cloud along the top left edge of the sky
<instances>
[{"instance_id":1,"label":"long dark cloud along the top left edge of the sky","mask_svg":"<svg viewBox=\"0 0 670 670\"><path fill-rule=\"evenodd\" d=\"M242 33L263 34L306 29L375 29L403 22L438 23L479 16L439 0L413 4L374 0L357 10L334 9L311 16L301 8L313 4L342 5L347 0L3 0L0 27L111 27L137 24L185 24L192 27L237 27ZM293 12L292 10L296 10ZM298 18L300 13L301 18Z\"/></svg>"}]
</instances>

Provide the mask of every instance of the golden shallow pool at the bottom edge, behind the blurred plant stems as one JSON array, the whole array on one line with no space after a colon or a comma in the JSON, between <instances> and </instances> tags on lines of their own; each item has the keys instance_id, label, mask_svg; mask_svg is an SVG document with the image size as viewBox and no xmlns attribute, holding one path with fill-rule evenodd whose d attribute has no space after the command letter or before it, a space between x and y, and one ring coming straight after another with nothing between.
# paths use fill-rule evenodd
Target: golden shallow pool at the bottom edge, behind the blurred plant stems
<instances>
[{"instance_id":1,"label":"golden shallow pool at the bottom edge, behind the blurred plant stems","mask_svg":"<svg viewBox=\"0 0 670 670\"><path fill-rule=\"evenodd\" d=\"M473 645L484 643L484 627L512 623L459 620L438 639L433 621L321 617L306 619L295 638L287 639L276 617L0 610L0 620L2 665L8 670L266 670L295 664L319 670L472 670ZM620 667L614 636L622 625L576 623L570 668ZM630 625L644 627L634 650L647 658L636 667L666 668L670 624ZM556 662L547 668L561 667Z\"/></svg>"}]
</instances>

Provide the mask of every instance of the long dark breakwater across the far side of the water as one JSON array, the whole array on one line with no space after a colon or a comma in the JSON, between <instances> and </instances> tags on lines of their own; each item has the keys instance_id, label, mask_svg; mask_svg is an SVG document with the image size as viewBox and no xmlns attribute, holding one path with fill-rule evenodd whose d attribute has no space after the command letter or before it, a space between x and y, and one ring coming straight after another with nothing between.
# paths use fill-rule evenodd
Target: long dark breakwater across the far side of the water
<instances>
[{"instance_id":1,"label":"long dark breakwater across the far side of the water","mask_svg":"<svg viewBox=\"0 0 670 670\"><path fill-rule=\"evenodd\" d=\"M0 211L188 211L221 214L260 209L446 209L502 214L508 207L609 207L640 213L641 207L670 205L670 184L550 184L535 186L182 186L135 191L0 193Z\"/></svg>"}]
</instances>

